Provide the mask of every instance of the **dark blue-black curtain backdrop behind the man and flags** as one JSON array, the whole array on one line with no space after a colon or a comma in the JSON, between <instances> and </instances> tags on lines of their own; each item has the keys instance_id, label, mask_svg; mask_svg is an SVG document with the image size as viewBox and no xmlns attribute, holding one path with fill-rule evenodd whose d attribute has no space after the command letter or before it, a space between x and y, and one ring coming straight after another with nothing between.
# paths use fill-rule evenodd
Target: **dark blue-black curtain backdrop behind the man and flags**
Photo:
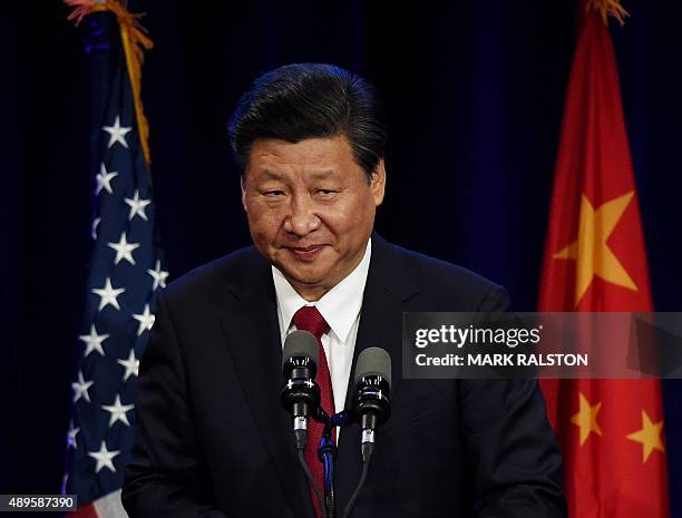
<instances>
[{"instance_id":1,"label":"dark blue-black curtain backdrop behind the man and flags","mask_svg":"<svg viewBox=\"0 0 682 518\"><path fill-rule=\"evenodd\" d=\"M19 2L18 2L19 3ZM0 492L60 486L89 254L87 60L59 2L2 14ZM682 4L625 1L613 27L657 310L682 311ZM505 284L535 307L575 32L573 0L138 1L157 214L172 275L249 244L226 120L256 75L327 61L389 110L387 238ZM29 9L32 11L29 12ZM4 10L4 8L3 8ZM7 385L7 387L4 387ZM665 383L674 516L682 388Z\"/></svg>"}]
</instances>

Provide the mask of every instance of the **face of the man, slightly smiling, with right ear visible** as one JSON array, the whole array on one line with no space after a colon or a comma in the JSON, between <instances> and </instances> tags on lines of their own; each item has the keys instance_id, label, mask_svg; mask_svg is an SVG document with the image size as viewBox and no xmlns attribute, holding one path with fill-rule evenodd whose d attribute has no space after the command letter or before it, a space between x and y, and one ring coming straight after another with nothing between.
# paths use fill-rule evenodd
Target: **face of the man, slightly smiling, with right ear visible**
<instances>
[{"instance_id":1,"label":"face of the man, slightly smiling, with right ear visible","mask_svg":"<svg viewBox=\"0 0 682 518\"><path fill-rule=\"evenodd\" d=\"M256 248L314 301L362 260L384 185L383 160L368 182L344 136L259 139L242 178L242 203Z\"/></svg>"}]
</instances>

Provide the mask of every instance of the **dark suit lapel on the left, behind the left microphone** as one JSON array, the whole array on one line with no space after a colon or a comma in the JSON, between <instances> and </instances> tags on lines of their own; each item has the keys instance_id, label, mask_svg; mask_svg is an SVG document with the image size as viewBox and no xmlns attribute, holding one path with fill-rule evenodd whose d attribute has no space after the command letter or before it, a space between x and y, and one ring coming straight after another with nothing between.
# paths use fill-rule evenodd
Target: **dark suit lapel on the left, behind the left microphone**
<instances>
[{"instance_id":1,"label":"dark suit lapel on the left, behind the left microphone","mask_svg":"<svg viewBox=\"0 0 682 518\"><path fill-rule=\"evenodd\" d=\"M241 300L238 312L223 314L230 352L252 416L294 517L313 511L296 458L291 418L280 403L282 342L270 265L254 251L250 272L228 280ZM266 489L266 488L263 488Z\"/></svg>"}]
</instances>

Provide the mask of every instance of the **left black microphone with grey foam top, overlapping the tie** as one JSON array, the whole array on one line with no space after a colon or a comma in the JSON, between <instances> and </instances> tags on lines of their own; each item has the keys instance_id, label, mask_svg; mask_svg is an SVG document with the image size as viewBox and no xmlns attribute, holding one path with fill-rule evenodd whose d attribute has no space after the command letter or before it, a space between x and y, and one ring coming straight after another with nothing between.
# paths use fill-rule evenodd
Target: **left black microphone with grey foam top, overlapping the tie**
<instances>
[{"instance_id":1,"label":"left black microphone with grey foam top, overlapping the tie","mask_svg":"<svg viewBox=\"0 0 682 518\"><path fill-rule=\"evenodd\" d=\"M284 341L282 351L282 405L293 416L296 448L305 448L308 418L318 412L320 388L315 373L320 360L318 339L308 331L294 331Z\"/></svg>"}]
</instances>

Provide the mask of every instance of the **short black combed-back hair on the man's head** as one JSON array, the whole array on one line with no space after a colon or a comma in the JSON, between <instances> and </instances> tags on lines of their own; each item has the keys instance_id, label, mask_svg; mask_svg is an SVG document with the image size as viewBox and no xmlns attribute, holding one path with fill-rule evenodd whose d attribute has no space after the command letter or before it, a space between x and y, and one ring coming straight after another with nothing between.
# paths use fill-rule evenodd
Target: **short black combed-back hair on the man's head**
<instances>
[{"instance_id":1,"label":"short black combed-back hair on the man's head","mask_svg":"<svg viewBox=\"0 0 682 518\"><path fill-rule=\"evenodd\" d=\"M285 65L259 77L232 115L230 144L242 168L259 138L299 143L344 135L371 178L386 153L381 101L360 76L323 63Z\"/></svg>"}]
</instances>

